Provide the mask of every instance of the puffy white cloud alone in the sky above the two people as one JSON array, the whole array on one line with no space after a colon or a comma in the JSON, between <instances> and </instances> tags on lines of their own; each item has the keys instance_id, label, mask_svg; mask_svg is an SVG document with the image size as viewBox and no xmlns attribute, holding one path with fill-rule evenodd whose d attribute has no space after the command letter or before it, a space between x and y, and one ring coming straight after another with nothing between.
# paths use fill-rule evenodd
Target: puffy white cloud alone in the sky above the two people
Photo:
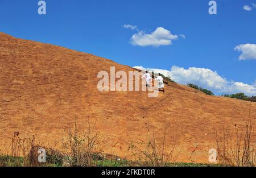
<instances>
[{"instance_id":1,"label":"puffy white cloud alone in the sky above the two people","mask_svg":"<svg viewBox=\"0 0 256 178\"><path fill-rule=\"evenodd\" d=\"M172 40L176 40L177 38L178 36L172 35L169 30L166 30L163 27L158 27L151 34L139 31L137 34L131 36L130 43L142 47L149 45L159 47L160 45L170 45L172 44Z\"/></svg>"}]
</instances>

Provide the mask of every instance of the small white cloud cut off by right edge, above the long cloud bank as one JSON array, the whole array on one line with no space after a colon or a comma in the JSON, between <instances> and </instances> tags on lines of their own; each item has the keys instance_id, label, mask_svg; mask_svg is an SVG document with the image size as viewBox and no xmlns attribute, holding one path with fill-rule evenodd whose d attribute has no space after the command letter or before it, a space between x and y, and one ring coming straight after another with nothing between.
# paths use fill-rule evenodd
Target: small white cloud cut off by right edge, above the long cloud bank
<instances>
[{"instance_id":1,"label":"small white cloud cut off by right edge, above the long cloud bank","mask_svg":"<svg viewBox=\"0 0 256 178\"><path fill-rule=\"evenodd\" d=\"M256 59L256 44L240 44L234 50L242 52L239 56L240 60Z\"/></svg>"}]
</instances>

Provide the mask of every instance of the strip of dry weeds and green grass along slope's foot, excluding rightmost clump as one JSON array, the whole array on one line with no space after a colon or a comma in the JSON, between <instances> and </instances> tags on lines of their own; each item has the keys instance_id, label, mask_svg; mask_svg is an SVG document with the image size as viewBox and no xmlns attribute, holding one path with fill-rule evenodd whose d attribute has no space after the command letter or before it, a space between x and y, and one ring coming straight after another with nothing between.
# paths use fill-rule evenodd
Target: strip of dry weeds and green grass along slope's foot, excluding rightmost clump
<instances>
[{"instance_id":1,"label":"strip of dry weeds and green grass along slope's foot, excluding rightmost clump","mask_svg":"<svg viewBox=\"0 0 256 178\"><path fill-rule=\"evenodd\" d=\"M176 140L171 138L171 142L167 143L166 133L163 136L162 143L157 142L155 135L149 142L131 143L129 150L134 154L139 155L138 160L127 160L119 158L118 156L102 154L96 152L98 140L97 130L95 130L95 123L90 125L88 119L88 130L85 133L80 133L75 126L68 131L68 140L63 140L63 148L65 151L57 151L54 148L46 148L44 146L34 146L34 140L30 144L21 145L26 139L19 136L19 132L15 132L11 138L11 155L0 154L0 166L2 167L146 167L146 166L160 166L160 167L212 167L220 166L218 164L200 164L200 163L176 163L175 160L179 156L180 150L176 149ZM32 143L32 144L31 144ZM170 144L171 143L171 144ZM142 149L140 147L145 147ZM40 148L46 149L46 163L39 163L38 150ZM28 150L24 152L24 150ZM129 151L128 150L128 151ZM23 152L23 156L19 152Z\"/></svg>"}]
</instances>

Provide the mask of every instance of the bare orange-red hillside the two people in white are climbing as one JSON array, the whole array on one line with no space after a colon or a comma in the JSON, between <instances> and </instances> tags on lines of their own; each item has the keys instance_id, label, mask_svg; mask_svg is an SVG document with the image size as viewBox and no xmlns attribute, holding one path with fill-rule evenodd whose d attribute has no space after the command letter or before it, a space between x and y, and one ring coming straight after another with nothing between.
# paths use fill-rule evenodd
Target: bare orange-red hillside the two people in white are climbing
<instances>
[{"instance_id":1,"label":"bare orange-red hillside the two people in white are climbing","mask_svg":"<svg viewBox=\"0 0 256 178\"><path fill-rule=\"evenodd\" d=\"M53 146L67 137L64 130L77 115L80 129L86 128L88 116L97 120L105 153L130 158L132 140L147 142L152 133L159 140L166 131L167 142L175 136L182 147L177 161L208 163L209 149L216 148L215 131L249 121L250 102L207 96L179 84L166 86L156 98L147 92L99 92L97 74L112 66L134 70L0 32L0 151L8 150L14 131ZM251 119L255 122L255 102Z\"/></svg>"}]
</instances>

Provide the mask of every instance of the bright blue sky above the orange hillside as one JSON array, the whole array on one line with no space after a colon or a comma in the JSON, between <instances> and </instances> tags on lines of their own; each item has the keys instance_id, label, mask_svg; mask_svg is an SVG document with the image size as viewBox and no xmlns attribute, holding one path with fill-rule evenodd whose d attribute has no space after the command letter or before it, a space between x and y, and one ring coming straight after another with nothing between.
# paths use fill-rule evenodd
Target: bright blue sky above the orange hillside
<instances>
[{"instance_id":1,"label":"bright blue sky above the orange hillside","mask_svg":"<svg viewBox=\"0 0 256 178\"><path fill-rule=\"evenodd\" d=\"M38 14L38 2L0 0L0 31L131 67L165 69L181 84L192 78L216 94L256 95L256 0L218 0L217 15L208 13L209 1L204 0L46 0L46 15ZM168 38L170 32L172 44L137 43L147 37L154 40L152 32L158 27L167 32L158 38Z\"/></svg>"}]
</instances>

